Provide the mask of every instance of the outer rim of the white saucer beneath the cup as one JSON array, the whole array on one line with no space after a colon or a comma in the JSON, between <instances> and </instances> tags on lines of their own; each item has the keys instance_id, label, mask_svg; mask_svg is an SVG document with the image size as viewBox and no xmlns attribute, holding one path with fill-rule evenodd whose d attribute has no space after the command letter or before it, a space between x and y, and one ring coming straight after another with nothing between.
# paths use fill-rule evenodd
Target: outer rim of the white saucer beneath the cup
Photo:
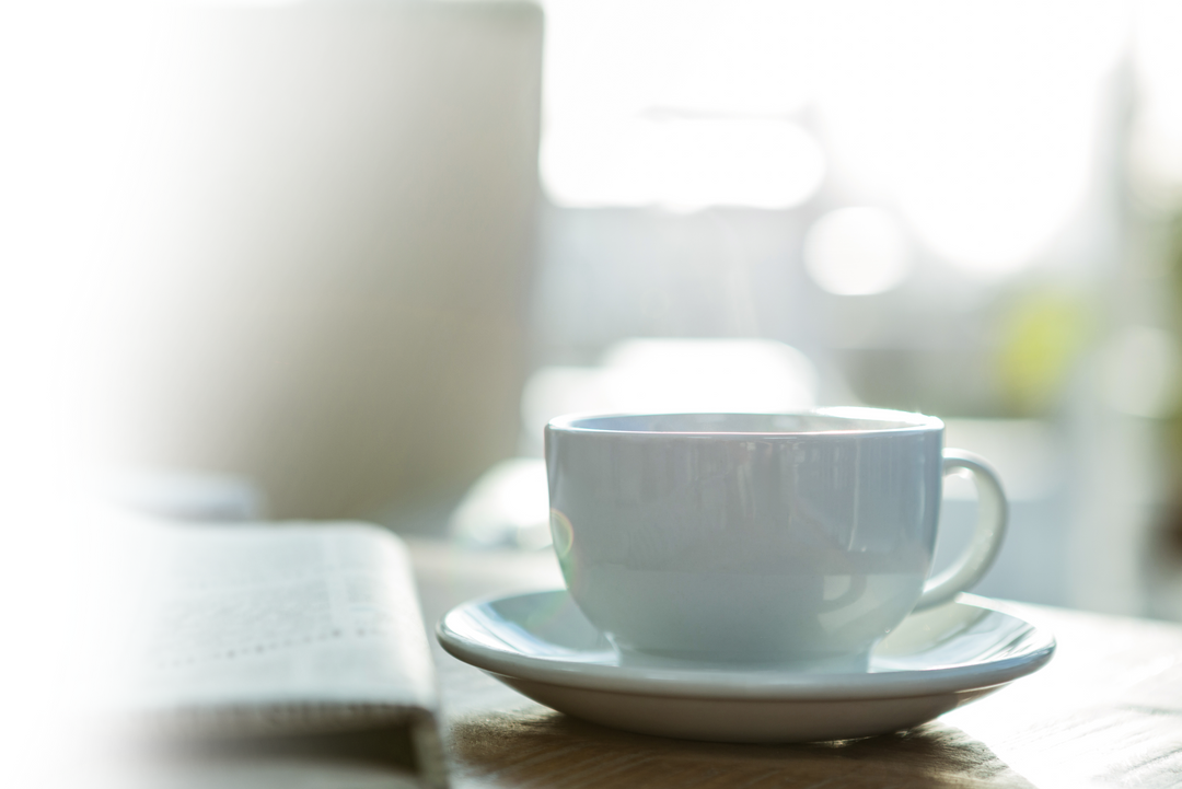
<instances>
[{"instance_id":1,"label":"outer rim of the white saucer beneath the cup","mask_svg":"<svg viewBox=\"0 0 1182 789\"><path fill-rule=\"evenodd\" d=\"M961 594L946 605L989 611L1028 626L1031 644L1021 654L962 666L864 673L624 667L534 657L511 648L496 650L465 637L449 624L473 608L544 594L569 596L565 588L485 595L448 611L436 624L435 637L443 650L456 659L499 677L615 693L751 700L865 700L985 690L1038 671L1051 660L1057 648L1054 635L1045 627L994 600L970 594Z\"/></svg>"}]
</instances>

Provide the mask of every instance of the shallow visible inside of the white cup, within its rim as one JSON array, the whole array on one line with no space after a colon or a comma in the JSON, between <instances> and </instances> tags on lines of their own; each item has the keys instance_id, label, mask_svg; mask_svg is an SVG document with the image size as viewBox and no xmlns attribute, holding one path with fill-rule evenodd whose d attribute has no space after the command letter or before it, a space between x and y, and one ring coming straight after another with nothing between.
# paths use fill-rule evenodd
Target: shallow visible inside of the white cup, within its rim
<instances>
[{"instance_id":1,"label":"shallow visible inside of the white cup, within its rim","mask_svg":"<svg viewBox=\"0 0 1182 789\"><path fill-rule=\"evenodd\" d=\"M557 429L619 433L803 435L940 429L935 417L878 409L832 409L807 413L625 413L571 416Z\"/></svg>"}]
</instances>

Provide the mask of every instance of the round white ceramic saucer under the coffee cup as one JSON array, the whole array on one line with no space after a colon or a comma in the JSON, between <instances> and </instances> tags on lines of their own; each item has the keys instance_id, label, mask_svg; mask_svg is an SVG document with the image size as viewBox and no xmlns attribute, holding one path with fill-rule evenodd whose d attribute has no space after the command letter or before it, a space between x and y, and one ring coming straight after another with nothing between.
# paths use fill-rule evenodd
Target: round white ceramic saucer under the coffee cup
<instances>
[{"instance_id":1,"label":"round white ceramic saucer under the coffee cup","mask_svg":"<svg viewBox=\"0 0 1182 789\"><path fill-rule=\"evenodd\" d=\"M1054 638L985 598L909 617L862 673L621 658L565 591L467 602L436 628L449 653L560 712L719 742L851 739L909 729L1041 669Z\"/></svg>"}]
</instances>

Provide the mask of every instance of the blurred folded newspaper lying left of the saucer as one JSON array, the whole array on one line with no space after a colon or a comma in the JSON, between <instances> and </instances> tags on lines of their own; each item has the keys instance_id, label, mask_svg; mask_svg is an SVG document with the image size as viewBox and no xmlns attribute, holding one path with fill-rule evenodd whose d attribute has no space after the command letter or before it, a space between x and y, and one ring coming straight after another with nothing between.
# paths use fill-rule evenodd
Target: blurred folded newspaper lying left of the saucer
<instances>
[{"instance_id":1,"label":"blurred folded newspaper lying left of the saucer","mask_svg":"<svg viewBox=\"0 0 1182 789\"><path fill-rule=\"evenodd\" d=\"M368 523L178 528L84 500L73 663L51 718L131 741L409 733L446 783L409 555Z\"/></svg>"}]
</instances>

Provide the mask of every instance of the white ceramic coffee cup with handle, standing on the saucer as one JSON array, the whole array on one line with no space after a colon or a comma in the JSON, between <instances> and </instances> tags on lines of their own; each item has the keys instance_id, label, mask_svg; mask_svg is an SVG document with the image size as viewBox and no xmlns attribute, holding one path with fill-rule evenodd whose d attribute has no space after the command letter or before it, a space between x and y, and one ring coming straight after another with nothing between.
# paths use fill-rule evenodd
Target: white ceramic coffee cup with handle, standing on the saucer
<instances>
[{"instance_id":1,"label":"white ceramic coffee cup with handle, standing on the saucer","mask_svg":"<svg viewBox=\"0 0 1182 789\"><path fill-rule=\"evenodd\" d=\"M996 474L934 417L572 416L546 426L551 530L571 596L632 659L865 670L911 612L981 579L1007 520ZM943 476L979 522L928 578Z\"/></svg>"}]
</instances>

